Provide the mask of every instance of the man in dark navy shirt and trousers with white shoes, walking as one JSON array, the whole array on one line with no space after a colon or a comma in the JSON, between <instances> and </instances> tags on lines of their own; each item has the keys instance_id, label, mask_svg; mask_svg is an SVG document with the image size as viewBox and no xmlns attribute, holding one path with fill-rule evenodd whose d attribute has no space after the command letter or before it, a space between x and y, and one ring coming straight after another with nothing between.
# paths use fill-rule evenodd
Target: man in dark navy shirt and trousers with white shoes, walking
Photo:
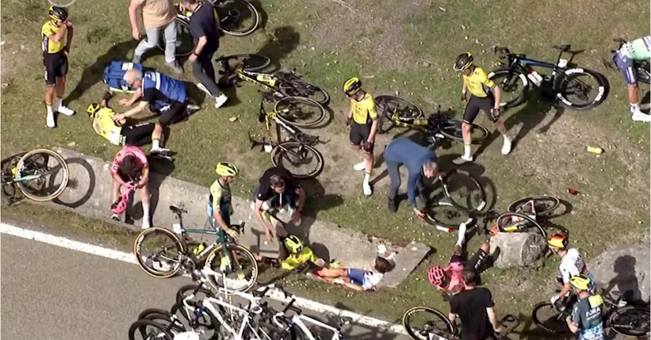
<instances>
[{"instance_id":1,"label":"man in dark navy shirt and trousers with white shoes, walking","mask_svg":"<svg viewBox=\"0 0 651 340\"><path fill-rule=\"evenodd\" d=\"M215 109L219 109L229 98L219 90L215 81L215 68L212 66L212 57L219 48L214 7L197 0L181 0L180 7L181 10L193 12L190 17L190 35L195 48L188 58L192 62L192 74L199 81L197 86L215 99Z\"/></svg>"}]
</instances>

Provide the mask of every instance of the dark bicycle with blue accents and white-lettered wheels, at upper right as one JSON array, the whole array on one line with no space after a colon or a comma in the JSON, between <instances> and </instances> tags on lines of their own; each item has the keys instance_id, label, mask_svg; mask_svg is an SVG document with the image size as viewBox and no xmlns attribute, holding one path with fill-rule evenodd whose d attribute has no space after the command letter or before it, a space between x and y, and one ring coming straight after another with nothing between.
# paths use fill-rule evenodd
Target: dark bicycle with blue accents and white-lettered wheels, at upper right
<instances>
[{"instance_id":1,"label":"dark bicycle with blue accents and white-lettered wheels, at upper right","mask_svg":"<svg viewBox=\"0 0 651 340\"><path fill-rule=\"evenodd\" d=\"M533 86L540 88L544 94L557 99L568 109L585 111L596 107L605 100L606 81L603 75L587 68L575 67L576 65L571 62L575 53L570 51L570 45L553 47L559 50L559 57L555 64L528 59L526 55L511 53L506 47L493 47L493 52L499 53L499 59L506 60L506 62L500 62L501 68L488 73L489 79L501 87L503 96L508 93L518 94L516 98L500 103L502 107L508 109L524 103L527 99L527 92L529 92L529 81ZM562 59L563 53L570 53L572 57L569 60ZM551 68L553 71L549 75L541 75L532 66ZM588 77L596 81L597 94L594 98L590 99L588 93L595 86L587 85L578 79L579 77ZM518 85L521 86L519 92L516 90ZM576 99L580 101L575 102L568 95L576 96Z\"/></svg>"}]
</instances>

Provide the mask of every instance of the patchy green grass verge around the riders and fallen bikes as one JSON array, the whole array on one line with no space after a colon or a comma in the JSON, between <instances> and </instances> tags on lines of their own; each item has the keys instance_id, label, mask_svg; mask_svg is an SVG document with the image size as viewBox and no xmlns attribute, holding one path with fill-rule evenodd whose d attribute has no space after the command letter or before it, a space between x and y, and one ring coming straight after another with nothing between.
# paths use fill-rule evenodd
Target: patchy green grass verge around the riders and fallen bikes
<instances>
[{"instance_id":1,"label":"patchy green grass verge around the riders and fallen bikes","mask_svg":"<svg viewBox=\"0 0 651 340\"><path fill-rule=\"evenodd\" d=\"M1 155L36 146L61 146L104 159L113 156L117 148L94 134L84 112L89 103L98 101L105 89L101 82L103 62L129 59L135 47L128 28L127 3L113 1L107 5L101 1L79 0L70 7L76 38L70 55L68 93L82 75L85 75L81 86L84 91L68 103L79 114L60 117L57 129L46 129L41 99L44 84L38 36L46 18L46 2L16 1L12 6L0 8L4 23L0 35L7 40L7 44L0 46L0 60L4 60L4 64L0 63L3 67L0 83L8 84L0 88ZM543 111L544 105L527 104L506 112L507 127L533 128L519 138L508 157L499 153L501 143L497 139L477 159L482 176L488 177L497 188L495 209L504 211L508 203L523 196L561 196L574 209L554 222L570 230L572 244L579 246L588 257L611 244L632 242L639 238L636 235L648 232L646 226L651 223L645 203L650 194L646 185L646 172L651 165L646 155L651 146L648 125L630 121L621 76L603 70L600 64L611 49L612 37L623 34L633 38L651 30L643 10L646 3L636 0L594 5L589 1L575 1L572 7L559 0L544 4L516 0L472 3L348 0L346 3L354 13L336 1L264 1L262 9L268 18L264 30L242 38L224 37L219 53L261 51L283 68L297 68L308 79L324 86L332 96L330 107L335 117L318 134L345 140L343 112L348 107L340 85L351 75L363 76L364 86L372 94L397 91L419 103L425 112L431 112L432 105L441 104L444 108L452 107L459 117L463 111L459 101L461 81L451 70L459 53L471 51L477 63L490 70L495 57L482 51L493 44L553 62L556 51L550 46L571 43L575 49L586 50L575 57L576 62L609 78L609 98L588 112L565 111L545 133L536 131L541 121L551 118ZM279 41L272 41L271 37ZM146 66L167 72L161 53L152 54L153 57L146 59ZM191 81L191 74L186 72L183 79ZM257 176L270 164L266 155L248 151L245 137L247 131L261 131L255 124L259 101L256 90L253 85L229 90L232 98L229 107L215 112L206 103L206 108L188 122L172 127L167 146L178 152L172 176L207 186L214 180L214 164L230 159L240 164L244 173L243 180L237 182L236 192L242 195L251 192ZM115 99L113 106L118 108ZM229 122L233 116L238 120ZM489 126L483 116L478 122ZM68 146L72 142L74 146ZM346 143L341 145L343 148ZM585 151L587 145L602 146L606 153L595 157ZM346 301L347 306L357 311L390 319L400 317L402 311L416 304L446 309L440 294L424 278L432 263L445 262L454 237L409 220L411 209L404 205L396 214L384 213L386 189L382 183L387 179L382 180L371 198L352 189L337 189L357 188L357 184L346 184L350 181L347 169L355 155L347 148L331 150L333 144L319 148L341 156L326 159L329 168L318 178L325 183L326 196L309 202L311 215L377 237L424 242L436 252L398 289L348 296L350 293L337 287L318 285L314 289L316 283L293 278L296 289L326 302ZM460 147L439 150L439 155L451 152L459 153ZM578 189L581 196L566 194L568 187ZM2 209L3 214L19 211L16 216L23 218L44 215L42 209L29 206ZM79 221L77 231L94 228L94 222ZM480 241L472 240L470 248ZM493 289L501 311L528 313L534 302L549 295L556 266L556 261L548 260L537 269L492 269L485 274L484 281Z\"/></svg>"}]
</instances>

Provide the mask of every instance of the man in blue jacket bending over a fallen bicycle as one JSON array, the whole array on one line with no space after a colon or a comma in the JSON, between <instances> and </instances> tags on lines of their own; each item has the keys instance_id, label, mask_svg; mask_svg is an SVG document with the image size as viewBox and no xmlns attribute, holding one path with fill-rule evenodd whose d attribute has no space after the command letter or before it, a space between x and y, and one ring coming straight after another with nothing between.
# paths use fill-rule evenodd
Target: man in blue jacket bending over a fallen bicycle
<instances>
[{"instance_id":1,"label":"man in blue jacket bending over a fallen bicycle","mask_svg":"<svg viewBox=\"0 0 651 340\"><path fill-rule=\"evenodd\" d=\"M418 209L416 205L416 190L421 198L423 195L422 176L427 178L434 177L438 174L436 165L436 153L421 146L409 139L409 137L400 137L392 140L384 150L384 161L387 163L389 170L389 179L391 179L391 189L389 189L389 211L395 213L398 210L396 206L396 196L398 187L400 187L400 172L398 167L401 164L407 167L409 174L407 181L407 195L409 203L413 206L413 211L418 218L424 218L425 213ZM427 202L423 202L427 203Z\"/></svg>"}]
</instances>

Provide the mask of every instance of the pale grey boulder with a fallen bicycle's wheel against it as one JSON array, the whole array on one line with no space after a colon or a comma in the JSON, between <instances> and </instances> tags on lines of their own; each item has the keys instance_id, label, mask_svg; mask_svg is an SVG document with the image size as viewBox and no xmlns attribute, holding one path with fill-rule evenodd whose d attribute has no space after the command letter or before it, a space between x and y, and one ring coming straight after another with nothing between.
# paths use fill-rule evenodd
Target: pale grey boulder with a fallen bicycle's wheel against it
<instances>
[{"instance_id":1,"label":"pale grey boulder with a fallen bicycle's wheel against it","mask_svg":"<svg viewBox=\"0 0 651 340\"><path fill-rule=\"evenodd\" d=\"M497 250L499 248L499 250ZM529 267L545 254L547 242L540 234L497 233L490 239L490 252L499 256L493 265L497 268Z\"/></svg>"}]
</instances>

